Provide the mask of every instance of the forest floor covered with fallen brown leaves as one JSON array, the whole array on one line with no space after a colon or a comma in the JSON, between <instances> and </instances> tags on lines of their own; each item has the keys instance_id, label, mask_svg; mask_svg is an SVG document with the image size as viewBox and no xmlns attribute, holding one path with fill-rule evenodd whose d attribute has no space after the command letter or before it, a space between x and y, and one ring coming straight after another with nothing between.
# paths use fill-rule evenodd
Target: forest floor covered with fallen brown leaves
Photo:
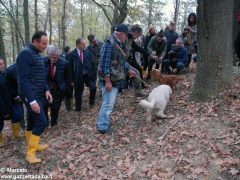
<instances>
[{"instance_id":1,"label":"forest floor covered with fallen brown leaves","mask_svg":"<svg viewBox=\"0 0 240 180\"><path fill-rule=\"evenodd\" d=\"M118 95L111 114L112 135L96 131L101 105L67 112L62 106L59 125L48 128L42 141L48 150L37 153L42 164L28 165L23 138L11 138L10 122L4 127L6 145L0 149L1 168L26 173L0 175L51 175L53 179L240 179L240 74L232 88L206 103L188 100L195 64L183 74L166 107L169 119L146 121L132 90ZM150 92L158 86L150 83Z\"/></svg>"}]
</instances>

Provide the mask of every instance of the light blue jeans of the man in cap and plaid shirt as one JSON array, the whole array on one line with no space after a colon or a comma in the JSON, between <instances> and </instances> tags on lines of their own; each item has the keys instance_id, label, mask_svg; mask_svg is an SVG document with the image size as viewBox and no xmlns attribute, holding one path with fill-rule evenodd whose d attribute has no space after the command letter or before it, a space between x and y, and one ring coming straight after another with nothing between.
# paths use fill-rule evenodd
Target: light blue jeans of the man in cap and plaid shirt
<instances>
[{"instance_id":1,"label":"light blue jeans of the man in cap and plaid shirt","mask_svg":"<svg viewBox=\"0 0 240 180\"><path fill-rule=\"evenodd\" d=\"M111 92L108 92L105 86L101 86L102 90L102 106L98 114L97 129L105 131L110 127L110 113L115 105L118 88L112 87Z\"/></svg>"}]
</instances>

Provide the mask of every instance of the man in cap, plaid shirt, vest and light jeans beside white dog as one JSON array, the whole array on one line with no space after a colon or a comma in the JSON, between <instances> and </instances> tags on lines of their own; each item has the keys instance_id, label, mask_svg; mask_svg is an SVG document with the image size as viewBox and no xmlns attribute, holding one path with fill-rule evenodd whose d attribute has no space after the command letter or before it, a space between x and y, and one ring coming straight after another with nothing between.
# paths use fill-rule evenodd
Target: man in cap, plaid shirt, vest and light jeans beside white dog
<instances>
[{"instance_id":1,"label":"man in cap, plaid shirt, vest and light jeans beside white dog","mask_svg":"<svg viewBox=\"0 0 240 180\"><path fill-rule=\"evenodd\" d=\"M126 62L128 50L124 43L127 37L128 27L120 24L101 49L98 75L103 101L97 118L97 130L102 134L113 131L110 127L110 113L115 105L119 89L126 88L126 76L136 75Z\"/></svg>"}]
</instances>

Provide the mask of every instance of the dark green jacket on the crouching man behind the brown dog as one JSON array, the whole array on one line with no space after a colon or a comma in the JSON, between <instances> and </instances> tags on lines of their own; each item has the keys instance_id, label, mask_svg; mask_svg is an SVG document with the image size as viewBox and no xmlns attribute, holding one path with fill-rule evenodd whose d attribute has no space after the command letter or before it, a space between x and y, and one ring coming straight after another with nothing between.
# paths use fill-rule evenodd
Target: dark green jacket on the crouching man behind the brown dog
<instances>
[{"instance_id":1,"label":"dark green jacket on the crouching man behind the brown dog","mask_svg":"<svg viewBox=\"0 0 240 180\"><path fill-rule=\"evenodd\" d=\"M157 36L153 36L147 48L149 54L152 54L152 51L156 51L156 55L163 58L167 52L167 41L163 39L163 41L159 44Z\"/></svg>"}]
</instances>

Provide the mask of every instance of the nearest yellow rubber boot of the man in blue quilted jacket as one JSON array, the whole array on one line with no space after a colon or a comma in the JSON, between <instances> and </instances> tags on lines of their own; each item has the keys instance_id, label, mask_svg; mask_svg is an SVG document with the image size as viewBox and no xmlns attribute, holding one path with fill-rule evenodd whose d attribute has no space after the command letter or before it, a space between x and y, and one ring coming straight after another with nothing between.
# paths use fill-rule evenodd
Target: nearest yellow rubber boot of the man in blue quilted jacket
<instances>
[{"instance_id":1,"label":"nearest yellow rubber boot of the man in blue quilted jacket","mask_svg":"<svg viewBox=\"0 0 240 180\"><path fill-rule=\"evenodd\" d=\"M30 135L28 147L27 147L27 157L26 160L30 163L40 163L41 159L36 157L37 147L39 145L40 137L33 134Z\"/></svg>"}]
</instances>

